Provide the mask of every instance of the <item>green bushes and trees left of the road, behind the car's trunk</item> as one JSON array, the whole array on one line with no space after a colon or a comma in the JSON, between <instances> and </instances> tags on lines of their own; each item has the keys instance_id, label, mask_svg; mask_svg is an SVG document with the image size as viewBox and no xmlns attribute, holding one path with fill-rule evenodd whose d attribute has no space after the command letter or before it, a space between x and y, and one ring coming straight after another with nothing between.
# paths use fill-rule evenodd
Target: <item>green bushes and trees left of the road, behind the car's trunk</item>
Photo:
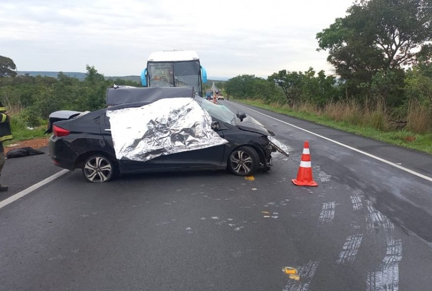
<instances>
[{"instance_id":1,"label":"green bushes and trees left of the road, behind the car's trunk","mask_svg":"<svg viewBox=\"0 0 432 291\"><path fill-rule=\"evenodd\" d=\"M44 137L50 113L57 110L93 111L106 105L107 88L140 86L122 79L105 80L94 66L86 66L83 81L59 72L56 78L16 76L13 60L0 56L0 101L11 116L11 130L17 141Z\"/></svg>"}]
</instances>

